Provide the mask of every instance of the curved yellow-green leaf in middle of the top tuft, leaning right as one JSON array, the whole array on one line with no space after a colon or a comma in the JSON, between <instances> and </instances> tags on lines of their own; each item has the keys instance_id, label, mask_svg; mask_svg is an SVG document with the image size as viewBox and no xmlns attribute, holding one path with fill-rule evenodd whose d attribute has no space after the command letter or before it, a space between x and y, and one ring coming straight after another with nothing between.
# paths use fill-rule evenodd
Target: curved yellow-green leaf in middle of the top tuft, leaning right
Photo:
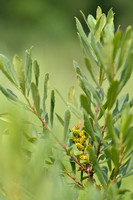
<instances>
[{"instance_id":1,"label":"curved yellow-green leaf in middle of the top tuft, leaning right","mask_svg":"<svg viewBox=\"0 0 133 200\"><path fill-rule=\"evenodd\" d=\"M105 14L102 14L101 17L98 19L95 26L94 36L95 36L96 42L100 41L101 33L105 24L106 24L106 16Z\"/></svg>"}]
</instances>

